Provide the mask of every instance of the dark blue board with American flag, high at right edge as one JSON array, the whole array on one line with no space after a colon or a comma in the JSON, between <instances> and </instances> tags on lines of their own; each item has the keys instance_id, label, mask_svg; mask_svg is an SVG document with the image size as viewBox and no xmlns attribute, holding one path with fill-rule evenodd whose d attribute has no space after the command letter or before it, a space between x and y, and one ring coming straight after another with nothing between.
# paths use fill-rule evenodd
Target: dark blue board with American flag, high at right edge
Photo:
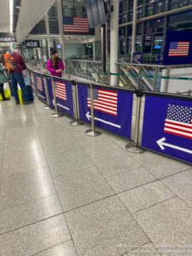
<instances>
[{"instance_id":1,"label":"dark blue board with American flag, high at right edge","mask_svg":"<svg viewBox=\"0 0 192 256\"><path fill-rule=\"evenodd\" d=\"M168 31L164 65L192 63L192 31Z\"/></svg>"}]
</instances>

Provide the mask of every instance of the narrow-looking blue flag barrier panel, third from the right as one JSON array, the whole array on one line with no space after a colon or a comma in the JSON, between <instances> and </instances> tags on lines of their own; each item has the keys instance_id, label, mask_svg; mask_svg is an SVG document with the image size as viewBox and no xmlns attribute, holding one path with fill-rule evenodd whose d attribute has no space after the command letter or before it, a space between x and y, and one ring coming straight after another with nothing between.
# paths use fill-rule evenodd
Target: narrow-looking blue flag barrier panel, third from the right
<instances>
[{"instance_id":1,"label":"narrow-looking blue flag barrier panel, third from the right","mask_svg":"<svg viewBox=\"0 0 192 256\"><path fill-rule=\"evenodd\" d=\"M54 83L58 111L73 118L74 111L72 83L63 79L54 79Z\"/></svg>"}]
</instances>

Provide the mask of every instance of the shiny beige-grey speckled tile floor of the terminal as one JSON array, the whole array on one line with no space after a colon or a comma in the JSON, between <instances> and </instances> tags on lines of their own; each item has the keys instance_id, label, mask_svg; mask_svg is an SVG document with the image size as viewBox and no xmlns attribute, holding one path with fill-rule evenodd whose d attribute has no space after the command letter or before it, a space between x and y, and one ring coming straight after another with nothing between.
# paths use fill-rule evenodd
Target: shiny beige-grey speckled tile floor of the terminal
<instances>
[{"instance_id":1,"label":"shiny beige-grey speckled tile floor of the terminal","mask_svg":"<svg viewBox=\"0 0 192 256\"><path fill-rule=\"evenodd\" d=\"M192 255L191 166L43 107L0 102L0 255Z\"/></svg>"}]
</instances>

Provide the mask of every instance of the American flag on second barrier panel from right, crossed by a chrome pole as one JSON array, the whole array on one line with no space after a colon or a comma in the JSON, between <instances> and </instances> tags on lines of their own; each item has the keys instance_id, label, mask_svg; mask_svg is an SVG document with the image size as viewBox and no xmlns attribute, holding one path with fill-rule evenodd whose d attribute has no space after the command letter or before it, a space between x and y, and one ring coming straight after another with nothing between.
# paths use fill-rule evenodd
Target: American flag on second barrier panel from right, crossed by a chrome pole
<instances>
[{"instance_id":1,"label":"American flag on second barrier panel from right, crossed by a chrome pole","mask_svg":"<svg viewBox=\"0 0 192 256\"><path fill-rule=\"evenodd\" d=\"M118 93L112 90L94 89L94 109L117 115ZM88 108L90 108L90 89L88 89Z\"/></svg>"}]
</instances>

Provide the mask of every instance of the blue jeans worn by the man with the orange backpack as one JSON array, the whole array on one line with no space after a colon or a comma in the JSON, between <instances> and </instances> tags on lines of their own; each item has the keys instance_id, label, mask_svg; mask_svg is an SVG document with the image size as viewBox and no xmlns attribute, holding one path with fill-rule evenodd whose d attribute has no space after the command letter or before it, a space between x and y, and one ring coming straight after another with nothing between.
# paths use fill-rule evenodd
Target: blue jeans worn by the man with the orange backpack
<instances>
[{"instance_id":1,"label":"blue jeans worn by the man with the orange backpack","mask_svg":"<svg viewBox=\"0 0 192 256\"><path fill-rule=\"evenodd\" d=\"M13 93L15 96L15 102L19 102L19 96L18 96L18 92L17 92L17 83L20 84L20 89L22 90L22 96L23 96L23 100L24 102L28 102L29 101L29 97L28 97L28 93L26 90L26 84L23 78L23 74L22 73L11 73L11 84L12 84L12 88L13 88Z\"/></svg>"}]
</instances>

